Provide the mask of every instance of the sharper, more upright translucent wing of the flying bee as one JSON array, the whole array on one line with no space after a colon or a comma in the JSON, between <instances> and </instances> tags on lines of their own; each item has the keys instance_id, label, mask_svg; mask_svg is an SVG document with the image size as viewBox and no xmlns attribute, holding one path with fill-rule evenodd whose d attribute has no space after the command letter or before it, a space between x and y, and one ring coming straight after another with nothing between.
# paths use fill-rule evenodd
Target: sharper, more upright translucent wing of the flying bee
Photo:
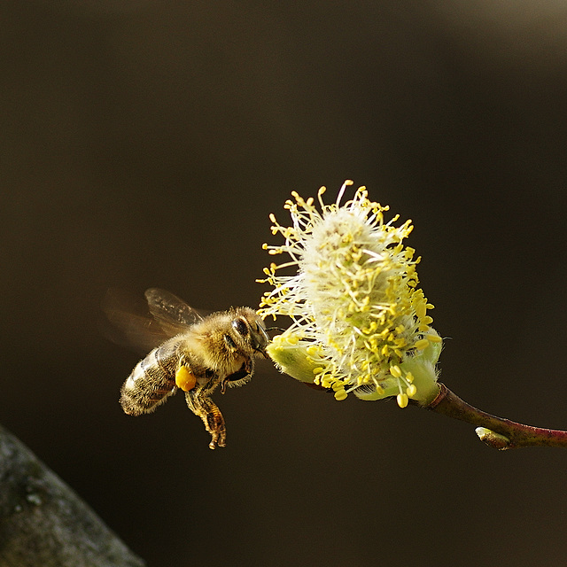
<instances>
[{"instance_id":1,"label":"sharper, more upright translucent wing of the flying bee","mask_svg":"<svg viewBox=\"0 0 567 567\"><path fill-rule=\"evenodd\" d=\"M183 299L179 299L170 291L151 287L145 291L144 295L151 315L170 337L203 320L195 309L189 307Z\"/></svg>"}]
</instances>

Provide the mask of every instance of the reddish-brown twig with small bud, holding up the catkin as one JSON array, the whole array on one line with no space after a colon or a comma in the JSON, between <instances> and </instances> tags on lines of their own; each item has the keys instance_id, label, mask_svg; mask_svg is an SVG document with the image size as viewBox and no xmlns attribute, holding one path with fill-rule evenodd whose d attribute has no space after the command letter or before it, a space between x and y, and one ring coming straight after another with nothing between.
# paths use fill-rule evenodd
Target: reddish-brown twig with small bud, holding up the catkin
<instances>
[{"instance_id":1,"label":"reddish-brown twig with small bud, holding up the catkin","mask_svg":"<svg viewBox=\"0 0 567 567\"><path fill-rule=\"evenodd\" d=\"M567 431L532 427L491 416L461 400L445 384L439 386L439 395L427 408L438 414L477 425L478 437L490 447L500 450L536 446L567 447Z\"/></svg>"}]
</instances>

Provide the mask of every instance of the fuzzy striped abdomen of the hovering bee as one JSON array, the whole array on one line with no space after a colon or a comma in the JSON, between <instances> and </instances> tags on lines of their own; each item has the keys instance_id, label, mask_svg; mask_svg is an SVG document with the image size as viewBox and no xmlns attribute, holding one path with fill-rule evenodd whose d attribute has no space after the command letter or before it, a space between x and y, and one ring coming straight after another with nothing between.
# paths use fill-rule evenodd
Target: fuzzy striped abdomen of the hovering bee
<instances>
[{"instance_id":1,"label":"fuzzy striped abdomen of the hovering bee","mask_svg":"<svg viewBox=\"0 0 567 567\"><path fill-rule=\"evenodd\" d=\"M175 393L179 347L180 340L172 338L136 364L120 390L120 405L127 414L151 412Z\"/></svg>"}]
</instances>

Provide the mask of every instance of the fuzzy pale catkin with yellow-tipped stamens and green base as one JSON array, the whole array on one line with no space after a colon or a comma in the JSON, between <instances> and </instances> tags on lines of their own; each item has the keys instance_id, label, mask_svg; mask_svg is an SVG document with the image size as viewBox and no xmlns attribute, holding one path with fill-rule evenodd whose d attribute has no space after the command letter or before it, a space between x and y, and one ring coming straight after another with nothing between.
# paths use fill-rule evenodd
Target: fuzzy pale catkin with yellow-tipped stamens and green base
<instances>
[{"instance_id":1,"label":"fuzzy pale catkin with yellow-tipped stamens and green base","mask_svg":"<svg viewBox=\"0 0 567 567\"><path fill-rule=\"evenodd\" d=\"M428 403L439 391L435 363L441 339L418 278L414 250L403 245L411 221L384 221L387 206L369 201L361 187L340 205L346 182L331 205L292 193L285 208L291 226L274 215L272 232L283 245L264 245L272 255L290 260L264 269L260 315L288 315L292 324L274 339L268 353L284 372L304 382L332 388L338 400L353 392L363 400L395 396ZM283 268L297 272L282 275ZM276 273L279 270L279 274ZM418 376L417 376L418 375Z\"/></svg>"}]
</instances>

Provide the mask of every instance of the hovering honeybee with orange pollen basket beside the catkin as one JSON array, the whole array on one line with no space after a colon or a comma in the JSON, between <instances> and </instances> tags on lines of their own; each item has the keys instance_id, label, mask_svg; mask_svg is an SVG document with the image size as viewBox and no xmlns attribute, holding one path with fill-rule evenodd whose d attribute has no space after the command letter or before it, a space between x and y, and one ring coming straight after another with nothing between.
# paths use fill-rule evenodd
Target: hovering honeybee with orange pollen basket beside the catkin
<instances>
[{"instance_id":1,"label":"hovering honeybee with orange pollen basket beside the catkin","mask_svg":"<svg viewBox=\"0 0 567 567\"><path fill-rule=\"evenodd\" d=\"M211 434L209 447L225 447L224 418L210 396L219 385L224 393L227 386L248 382L254 356L268 358L264 322L250 307L232 307L202 317L173 293L157 288L145 291L145 299L153 321L108 306L105 309L131 342L160 343L137 363L122 385L122 409L130 416L151 413L181 389L190 410Z\"/></svg>"}]
</instances>

